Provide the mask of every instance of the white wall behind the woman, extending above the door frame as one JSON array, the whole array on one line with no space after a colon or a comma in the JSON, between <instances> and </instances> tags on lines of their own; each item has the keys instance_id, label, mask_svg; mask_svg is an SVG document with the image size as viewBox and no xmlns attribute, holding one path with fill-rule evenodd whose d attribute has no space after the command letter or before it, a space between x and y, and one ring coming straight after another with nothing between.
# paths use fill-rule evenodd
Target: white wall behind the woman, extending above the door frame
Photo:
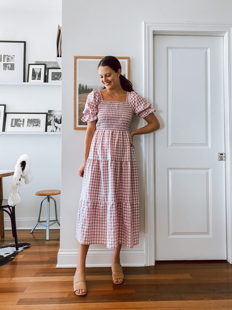
<instances>
[{"instance_id":1,"label":"white wall behind the woman, extending above the door frame","mask_svg":"<svg viewBox=\"0 0 232 310\"><path fill-rule=\"evenodd\" d=\"M230 0L128 0L117 2L66 0L62 3L62 196L61 239L58 267L78 261L75 238L76 217L82 178L85 130L73 130L73 56L130 56L130 80L135 91L143 89L143 21L153 23L225 22L231 23ZM96 68L97 70L97 68ZM149 98L147 98L149 99ZM159 107L153 104L159 110ZM156 114L159 117L158 114ZM134 117L131 130L146 125ZM149 133L151 134L151 133ZM121 263L144 265L144 150L143 135L134 137L140 180L140 243L132 249L122 246ZM158 151L157 151L158 152ZM162 154L159 154L162 155ZM149 169L149 167L147 167ZM149 195L149 193L147 193ZM148 232L148 235L153 232ZM90 245L86 266L110 266L112 250ZM93 258L93 256L95 257ZM104 255L104 256L103 256Z\"/></svg>"}]
</instances>

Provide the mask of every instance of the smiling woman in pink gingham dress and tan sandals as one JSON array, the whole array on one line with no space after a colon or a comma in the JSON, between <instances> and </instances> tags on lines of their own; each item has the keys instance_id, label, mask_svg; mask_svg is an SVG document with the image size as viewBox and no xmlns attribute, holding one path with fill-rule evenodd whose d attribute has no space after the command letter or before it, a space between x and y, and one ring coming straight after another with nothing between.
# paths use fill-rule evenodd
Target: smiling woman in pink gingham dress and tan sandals
<instances>
[{"instance_id":1,"label":"smiling woman in pink gingham dress and tan sandals","mask_svg":"<svg viewBox=\"0 0 232 310\"><path fill-rule=\"evenodd\" d=\"M114 56L104 57L98 73L104 88L87 96L83 122L87 121L84 162L79 168L83 177L76 226L79 262L74 276L76 295L87 294L85 259L90 244L105 244L114 249L112 279L124 280L120 264L122 244L132 248L139 243L139 178L134 135L160 128L156 110L132 88L121 74L121 64ZM129 131L133 115L148 124Z\"/></svg>"}]
</instances>

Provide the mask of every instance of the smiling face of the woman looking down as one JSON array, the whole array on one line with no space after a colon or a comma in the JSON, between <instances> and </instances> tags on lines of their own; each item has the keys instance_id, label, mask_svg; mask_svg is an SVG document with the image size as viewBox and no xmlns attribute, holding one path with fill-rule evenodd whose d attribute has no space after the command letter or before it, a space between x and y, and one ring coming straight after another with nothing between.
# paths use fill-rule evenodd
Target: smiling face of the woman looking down
<instances>
[{"instance_id":1,"label":"smiling face of the woman looking down","mask_svg":"<svg viewBox=\"0 0 232 310\"><path fill-rule=\"evenodd\" d=\"M118 86L120 84L118 75L121 73L121 69L118 69L118 73L112 70L108 66L100 66L98 68L98 73L100 77L100 81L107 89L112 89L115 86Z\"/></svg>"}]
</instances>

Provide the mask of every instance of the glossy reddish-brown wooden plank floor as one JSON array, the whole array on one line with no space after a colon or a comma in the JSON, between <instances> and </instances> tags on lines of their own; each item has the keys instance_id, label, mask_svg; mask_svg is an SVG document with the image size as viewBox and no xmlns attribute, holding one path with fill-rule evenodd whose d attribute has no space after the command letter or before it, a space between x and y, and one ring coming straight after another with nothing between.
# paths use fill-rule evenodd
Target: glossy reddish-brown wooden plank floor
<instances>
[{"instance_id":1,"label":"glossy reddish-brown wooden plank floor","mask_svg":"<svg viewBox=\"0 0 232 310\"><path fill-rule=\"evenodd\" d=\"M155 266L123 267L125 280L112 282L111 268L86 268L88 293L73 292L75 268L55 268L59 230L18 231L31 247L0 267L0 309L168 309L231 310L232 265L216 261L156 261ZM1 244L14 242L5 231Z\"/></svg>"}]
</instances>

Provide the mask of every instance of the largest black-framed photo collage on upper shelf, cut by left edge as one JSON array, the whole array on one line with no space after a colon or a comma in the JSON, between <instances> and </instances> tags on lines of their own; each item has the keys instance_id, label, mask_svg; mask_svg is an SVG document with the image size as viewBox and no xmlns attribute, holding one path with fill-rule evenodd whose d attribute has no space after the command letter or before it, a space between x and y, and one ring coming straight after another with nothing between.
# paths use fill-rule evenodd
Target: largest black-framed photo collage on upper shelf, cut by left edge
<instances>
[{"instance_id":1,"label":"largest black-framed photo collage on upper shelf, cut by left edge","mask_svg":"<svg viewBox=\"0 0 232 310\"><path fill-rule=\"evenodd\" d=\"M0 82L25 82L26 41L0 41Z\"/></svg>"}]
</instances>

